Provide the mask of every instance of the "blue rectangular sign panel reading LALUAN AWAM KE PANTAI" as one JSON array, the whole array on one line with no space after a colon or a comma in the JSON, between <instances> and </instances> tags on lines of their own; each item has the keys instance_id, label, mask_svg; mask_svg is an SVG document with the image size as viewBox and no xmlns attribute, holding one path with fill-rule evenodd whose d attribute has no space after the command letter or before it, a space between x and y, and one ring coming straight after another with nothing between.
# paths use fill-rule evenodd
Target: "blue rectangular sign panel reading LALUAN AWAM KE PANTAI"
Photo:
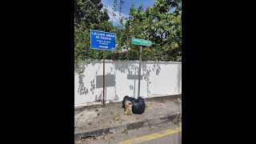
<instances>
[{"instance_id":1,"label":"blue rectangular sign panel reading LALUAN AWAM KE PANTAI","mask_svg":"<svg viewBox=\"0 0 256 144\"><path fill-rule=\"evenodd\" d=\"M97 50L115 50L115 34L90 30L90 48Z\"/></svg>"}]
</instances>

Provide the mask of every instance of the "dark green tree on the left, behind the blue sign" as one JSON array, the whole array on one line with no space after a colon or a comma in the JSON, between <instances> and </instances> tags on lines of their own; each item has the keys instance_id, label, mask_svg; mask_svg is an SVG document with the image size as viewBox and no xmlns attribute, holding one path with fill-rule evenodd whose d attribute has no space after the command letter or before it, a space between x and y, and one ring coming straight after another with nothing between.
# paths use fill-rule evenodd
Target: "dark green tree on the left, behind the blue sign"
<instances>
[{"instance_id":1,"label":"dark green tree on the left, behind the blue sign","mask_svg":"<svg viewBox=\"0 0 256 144\"><path fill-rule=\"evenodd\" d=\"M101 0L74 0L74 64L102 59L102 50L90 49L90 30L110 32L113 24Z\"/></svg>"}]
</instances>

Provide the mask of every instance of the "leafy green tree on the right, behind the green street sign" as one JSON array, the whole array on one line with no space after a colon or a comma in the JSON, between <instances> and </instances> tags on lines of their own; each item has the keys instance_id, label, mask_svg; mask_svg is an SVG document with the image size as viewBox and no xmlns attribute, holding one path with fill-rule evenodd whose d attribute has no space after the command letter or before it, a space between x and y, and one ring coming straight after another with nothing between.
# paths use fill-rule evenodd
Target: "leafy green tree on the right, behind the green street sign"
<instances>
[{"instance_id":1,"label":"leafy green tree on the right, behind the green street sign","mask_svg":"<svg viewBox=\"0 0 256 144\"><path fill-rule=\"evenodd\" d=\"M170 13L174 8L174 13ZM144 60L182 60L182 5L180 0L156 0L154 6L138 10L130 7L130 18L126 22L128 33L135 38L153 42L150 49L143 48ZM146 52L146 53L144 53Z\"/></svg>"}]
</instances>

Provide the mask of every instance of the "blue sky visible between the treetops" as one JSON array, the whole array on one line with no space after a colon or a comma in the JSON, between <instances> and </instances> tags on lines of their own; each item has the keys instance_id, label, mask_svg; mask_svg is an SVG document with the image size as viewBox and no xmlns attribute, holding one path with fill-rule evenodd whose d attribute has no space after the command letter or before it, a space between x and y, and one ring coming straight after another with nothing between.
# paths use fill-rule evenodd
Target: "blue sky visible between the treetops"
<instances>
[{"instance_id":1,"label":"blue sky visible between the treetops","mask_svg":"<svg viewBox=\"0 0 256 144\"><path fill-rule=\"evenodd\" d=\"M154 6L154 1L155 0L124 0L124 3L122 4L122 16L125 17L129 17L129 11L130 11L130 6L132 5L132 3L134 2L134 7L135 9L138 8L138 6L140 6L142 4L143 6L143 10L146 10L147 7L150 6ZM114 4L114 0L102 0L102 4L105 6L107 6L107 9L110 12L113 12L112 8L113 8L113 4ZM172 11L172 10L170 10ZM115 18L118 19L119 16L119 0L118 0L118 6L117 6L117 11L115 12L115 14L117 16L115 16ZM114 18L114 16L112 14L109 14L110 22L113 22L114 26L120 25L120 23Z\"/></svg>"}]
</instances>

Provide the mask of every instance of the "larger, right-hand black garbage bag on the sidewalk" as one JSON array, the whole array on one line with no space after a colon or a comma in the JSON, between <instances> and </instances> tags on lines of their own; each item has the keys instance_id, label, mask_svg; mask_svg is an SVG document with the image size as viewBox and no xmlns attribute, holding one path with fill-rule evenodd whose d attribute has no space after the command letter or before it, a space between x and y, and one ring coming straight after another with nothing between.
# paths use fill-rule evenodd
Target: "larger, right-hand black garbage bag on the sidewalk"
<instances>
[{"instance_id":1,"label":"larger, right-hand black garbage bag on the sidewalk","mask_svg":"<svg viewBox=\"0 0 256 144\"><path fill-rule=\"evenodd\" d=\"M142 97L138 97L138 99L134 98L133 103L133 113L134 114L143 114L146 108L146 104Z\"/></svg>"}]
</instances>

